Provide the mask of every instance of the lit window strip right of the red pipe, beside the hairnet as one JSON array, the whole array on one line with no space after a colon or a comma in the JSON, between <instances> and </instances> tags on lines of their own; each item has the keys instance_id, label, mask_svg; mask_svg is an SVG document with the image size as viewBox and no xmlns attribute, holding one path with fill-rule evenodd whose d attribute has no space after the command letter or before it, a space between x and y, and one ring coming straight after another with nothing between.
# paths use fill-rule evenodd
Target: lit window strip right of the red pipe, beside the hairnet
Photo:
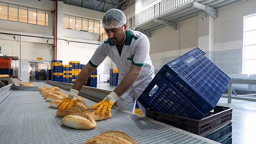
<instances>
[{"instance_id":1,"label":"lit window strip right of the red pipe, beside the hairnet","mask_svg":"<svg viewBox=\"0 0 256 144\"><path fill-rule=\"evenodd\" d=\"M99 34L102 30L100 27L100 21L63 15L63 29L88 31Z\"/></svg>"}]
</instances>

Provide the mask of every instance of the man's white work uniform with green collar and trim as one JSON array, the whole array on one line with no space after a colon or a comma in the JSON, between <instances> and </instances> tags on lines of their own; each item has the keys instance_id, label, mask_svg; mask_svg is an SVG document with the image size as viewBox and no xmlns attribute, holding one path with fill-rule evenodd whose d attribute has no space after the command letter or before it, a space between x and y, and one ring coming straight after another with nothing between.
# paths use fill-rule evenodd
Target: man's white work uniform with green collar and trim
<instances>
[{"instance_id":1,"label":"man's white work uniform with green collar and trim","mask_svg":"<svg viewBox=\"0 0 256 144\"><path fill-rule=\"evenodd\" d=\"M118 68L118 83L129 72L131 64L143 66L138 79L133 83L132 87L118 99L117 106L119 108L134 112L136 100L154 78L154 66L149 57L149 49L149 40L146 35L127 29L121 56L116 45L111 44L107 38L99 45L91 57L89 64L93 67L99 66L107 56L110 57ZM139 106L145 116L145 108L141 104Z\"/></svg>"}]
</instances>

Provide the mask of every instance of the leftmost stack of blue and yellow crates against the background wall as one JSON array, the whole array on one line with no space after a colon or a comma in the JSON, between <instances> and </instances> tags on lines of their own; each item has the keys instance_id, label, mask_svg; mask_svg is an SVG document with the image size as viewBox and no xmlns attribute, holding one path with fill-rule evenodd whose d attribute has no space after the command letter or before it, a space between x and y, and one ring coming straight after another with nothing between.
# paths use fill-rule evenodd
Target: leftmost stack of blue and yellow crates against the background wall
<instances>
[{"instance_id":1,"label":"leftmost stack of blue and yellow crates against the background wall","mask_svg":"<svg viewBox=\"0 0 256 144\"><path fill-rule=\"evenodd\" d=\"M51 61L51 80L55 82L63 82L63 66L62 61Z\"/></svg>"}]
</instances>

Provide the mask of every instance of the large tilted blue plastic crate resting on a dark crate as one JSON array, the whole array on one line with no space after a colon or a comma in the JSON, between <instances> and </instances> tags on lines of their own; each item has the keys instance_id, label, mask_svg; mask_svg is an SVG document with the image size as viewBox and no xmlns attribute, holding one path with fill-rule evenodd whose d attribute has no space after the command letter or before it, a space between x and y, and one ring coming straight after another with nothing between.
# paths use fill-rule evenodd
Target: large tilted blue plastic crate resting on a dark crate
<instances>
[{"instance_id":1,"label":"large tilted blue plastic crate resting on a dark crate","mask_svg":"<svg viewBox=\"0 0 256 144\"><path fill-rule=\"evenodd\" d=\"M195 48L165 64L137 101L160 113L204 118L231 80L205 55Z\"/></svg>"}]
</instances>

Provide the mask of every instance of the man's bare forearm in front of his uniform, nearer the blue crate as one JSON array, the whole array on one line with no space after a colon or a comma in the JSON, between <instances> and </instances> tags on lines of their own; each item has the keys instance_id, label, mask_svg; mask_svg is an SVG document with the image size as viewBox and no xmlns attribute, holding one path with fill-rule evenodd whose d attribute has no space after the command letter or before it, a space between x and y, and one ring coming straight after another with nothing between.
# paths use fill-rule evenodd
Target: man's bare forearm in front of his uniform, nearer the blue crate
<instances>
[{"instance_id":1,"label":"man's bare forearm in front of his uniform, nearer the blue crate","mask_svg":"<svg viewBox=\"0 0 256 144\"><path fill-rule=\"evenodd\" d=\"M136 66L131 64L129 72L124 76L123 80L120 84L115 88L114 92L120 97L122 96L128 89L133 85L133 83L137 80L140 72L142 70L142 66Z\"/></svg>"}]
</instances>

